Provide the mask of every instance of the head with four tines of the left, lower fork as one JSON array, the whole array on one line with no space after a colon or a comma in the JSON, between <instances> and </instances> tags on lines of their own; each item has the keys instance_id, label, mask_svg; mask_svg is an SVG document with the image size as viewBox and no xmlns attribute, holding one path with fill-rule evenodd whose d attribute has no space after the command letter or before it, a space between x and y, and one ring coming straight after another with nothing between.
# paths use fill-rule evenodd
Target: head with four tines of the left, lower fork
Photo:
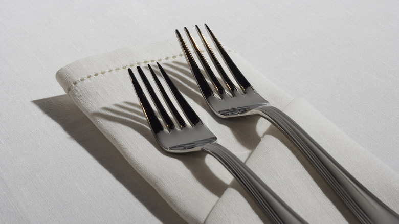
<instances>
[{"instance_id":1,"label":"head with four tines of the left, lower fork","mask_svg":"<svg viewBox=\"0 0 399 224\"><path fill-rule=\"evenodd\" d=\"M173 105L172 101L168 97L165 89L163 88L160 80L157 75L152 70L151 66L148 64L148 68L150 73L154 79L154 82L157 84L159 91L169 108L170 113L173 116L173 120L169 117L166 112L164 106L161 101L157 97L157 94L154 92L151 84L146 78L143 70L140 66L137 67L137 71L140 74L141 79L149 93L153 104L157 107L159 116L163 120L165 127L160 122L158 116L154 112L151 104L147 100L143 89L141 88L136 76L133 74L131 69L128 69L131 81L136 90L137 96L139 98L140 104L144 111L144 115L147 118L148 125L150 129L157 139L158 143L161 147L172 153L181 153L181 152L190 152L190 151L199 151L201 150L202 145L207 143L212 143L216 141L216 136L204 125L201 119L196 115L191 106L187 103L187 101L183 98L182 94L179 90L174 86L169 76L166 74L165 70L163 70L162 66L158 64L158 68L162 73L162 76L165 79L165 82L169 86L170 92L173 94L176 102L179 104L183 114L186 116L188 120L188 124L184 121L183 117L180 115L179 111ZM175 125L176 123L176 125ZM179 127L179 128L177 128Z\"/></svg>"}]
</instances>

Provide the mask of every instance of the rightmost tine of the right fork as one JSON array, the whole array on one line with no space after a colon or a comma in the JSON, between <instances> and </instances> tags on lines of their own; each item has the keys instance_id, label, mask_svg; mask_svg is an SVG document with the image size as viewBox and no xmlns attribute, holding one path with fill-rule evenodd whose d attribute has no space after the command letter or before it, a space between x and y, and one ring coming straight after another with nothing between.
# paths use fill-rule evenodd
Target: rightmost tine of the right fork
<instances>
[{"instance_id":1,"label":"rightmost tine of the right fork","mask_svg":"<svg viewBox=\"0 0 399 224\"><path fill-rule=\"evenodd\" d=\"M248 80L242 75L239 71L237 66L234 64L233 60L227 54L226 50L221 46L220 42L216 39L215 35L212 33L211 29L205 24L205 27L211 36L213 43L215 44L216 48L218 49L220 55L225 60L227 66L230 69L231 74L234 76L235 80L237 81L238 85L241 87L242 91L245 93L245 90L251 86Z\"/></svg>"}]
</instances>

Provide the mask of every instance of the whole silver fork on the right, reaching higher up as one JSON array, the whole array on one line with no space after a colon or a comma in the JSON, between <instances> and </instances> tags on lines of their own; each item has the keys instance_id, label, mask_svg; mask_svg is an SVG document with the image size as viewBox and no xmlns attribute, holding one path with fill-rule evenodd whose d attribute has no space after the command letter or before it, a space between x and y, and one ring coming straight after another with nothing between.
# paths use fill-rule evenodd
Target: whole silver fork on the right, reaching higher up
<instances>
[{"instance_id":1,"label":"whole silver fork on the right, reaching higher up","mask_svg":"<svg viewBox=\"0 0 399 224\"><path fill-rule=\"evenodd\" d=\"M221 80L226 85L226 88L224 88L216 78L188 29L184 28L204 71L215 89L215 91L213 91L208 85L200 68L198 68L198 65L188 50L180 32L176 30L176 36L179 39L183 53L194 78L196 79L196 82L213 113L221 118L258 115L269 120L295 143L297 148L303 152L307 159L320 172L326 182L334 189L347 207L361 222L399 223L398 214L388 208L381 200L375 197L361 183L359 183L294 120L278 108L271 106L267 100L255 91L206 24L205 27L220 56L229 68L230 74L235 78L238 88L242 92L241 94L238 91L221 64L218 62L200 28L195 25L197 33L201 37L201 41L204 44L214 67L219 73Z\"/></svg>"}]
</instances>

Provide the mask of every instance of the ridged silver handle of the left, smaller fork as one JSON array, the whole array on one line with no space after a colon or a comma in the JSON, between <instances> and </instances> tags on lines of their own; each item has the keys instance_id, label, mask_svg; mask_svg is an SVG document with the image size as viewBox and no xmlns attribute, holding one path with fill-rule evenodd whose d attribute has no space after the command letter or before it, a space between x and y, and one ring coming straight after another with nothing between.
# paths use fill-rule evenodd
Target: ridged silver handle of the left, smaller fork
<instances>
[{"instance_id":1,"label":"ridged silver handle of the left, smaller fork","mask_svg":"<svg viewBox=\"0 0 399 224\"><path fill-rule=\"evenodd\" d=\"M306 223L232 152L217 143L201 148L223 164L274 223Z\"/></svg>"}]
</instances>

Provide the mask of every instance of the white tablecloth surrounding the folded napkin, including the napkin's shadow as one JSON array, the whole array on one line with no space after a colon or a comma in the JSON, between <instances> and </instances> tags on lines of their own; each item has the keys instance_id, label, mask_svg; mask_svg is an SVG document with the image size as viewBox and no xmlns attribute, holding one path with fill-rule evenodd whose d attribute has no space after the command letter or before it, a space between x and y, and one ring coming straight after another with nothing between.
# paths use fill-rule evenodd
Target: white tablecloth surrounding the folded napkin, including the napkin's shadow
<instances>
[{"instance_id":1,"label":"white tablecloth surrounding the folded napkin, including the napkin's shadow","mask_svg":"<svg viewBox=\"0 0 399 224\"><path fill-rule=\"evenodd\" d=\"M397 12L396 1L3 1L0 222L183 221L55 73L195 24L399 172Z\"/></svg>"}]
</instances>

